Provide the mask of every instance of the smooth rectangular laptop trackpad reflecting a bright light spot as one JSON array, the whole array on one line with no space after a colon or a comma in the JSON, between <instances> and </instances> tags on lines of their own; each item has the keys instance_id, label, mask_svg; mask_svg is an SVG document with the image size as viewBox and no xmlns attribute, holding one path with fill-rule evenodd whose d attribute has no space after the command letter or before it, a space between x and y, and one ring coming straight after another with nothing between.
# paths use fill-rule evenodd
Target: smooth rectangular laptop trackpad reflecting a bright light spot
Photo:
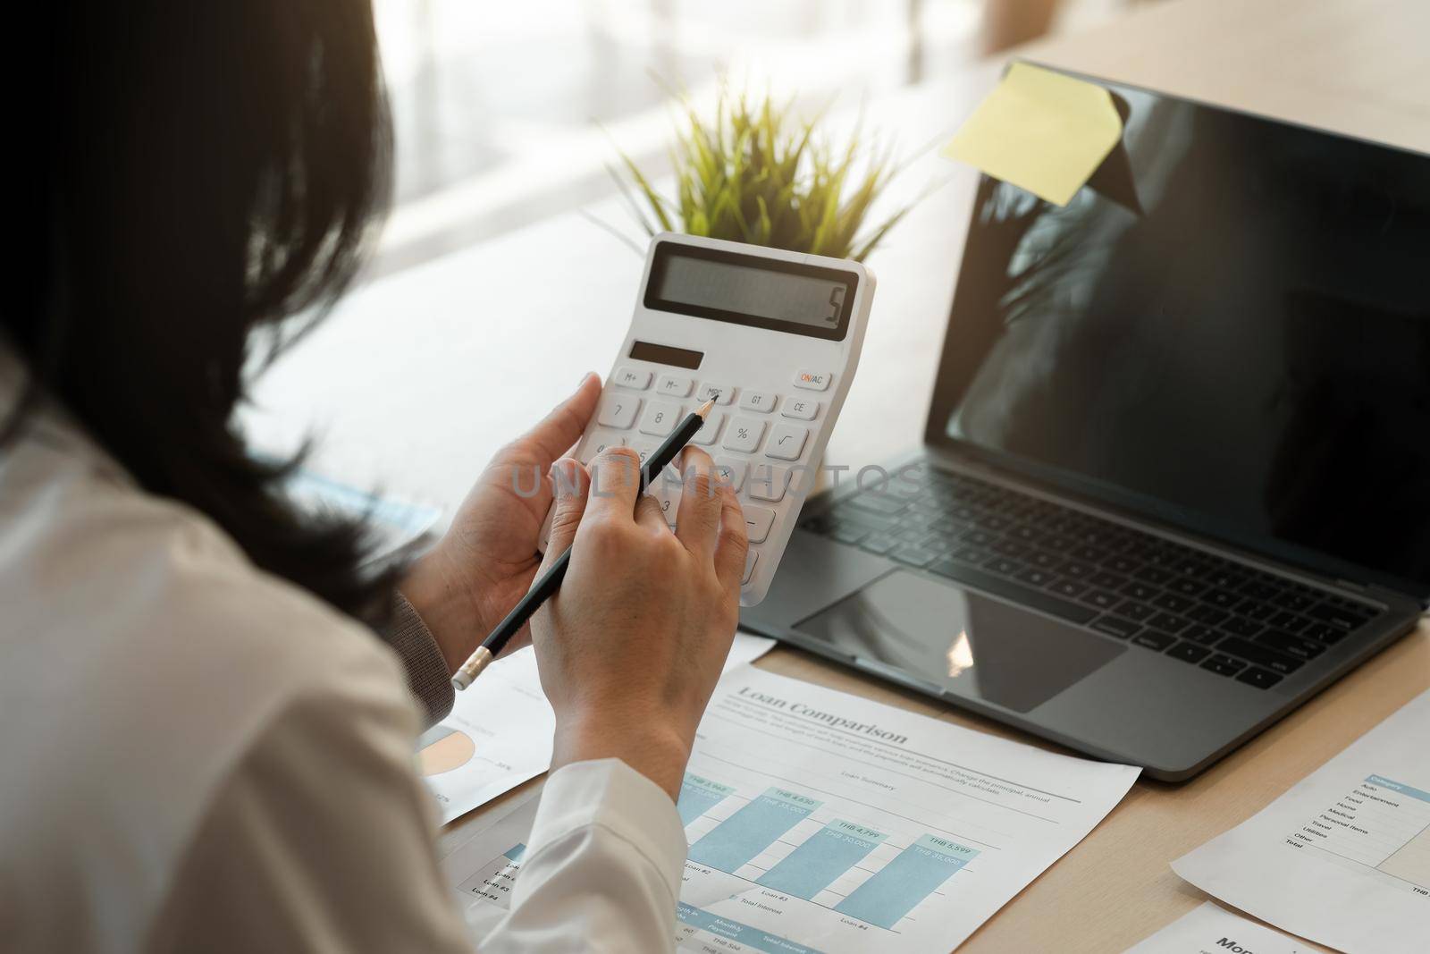
<instances>
[{"instance_id":1,"label":"smooth rectangular laptop trackpad reflecting a bright light spot","mask_svg":"<svg viewBox=\"0 0 1430 954\"><path fill-rule=\"evenodd\" d=\"M1125 652L1065 622L907 571L879 578L794 629L1017 712Z\"/></svg>"}]
</instances>

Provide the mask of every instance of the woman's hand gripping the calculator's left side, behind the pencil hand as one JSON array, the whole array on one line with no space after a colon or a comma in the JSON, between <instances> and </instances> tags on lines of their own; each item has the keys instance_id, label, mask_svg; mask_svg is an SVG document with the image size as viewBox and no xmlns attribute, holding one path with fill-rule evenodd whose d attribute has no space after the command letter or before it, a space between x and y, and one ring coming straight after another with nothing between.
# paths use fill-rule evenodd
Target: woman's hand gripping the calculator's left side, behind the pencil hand
<instances>
[{"instance_id":1,"label":"woman's hand gripping the calculator's left side, behind the pencil hand","mask_svg":"<svg viewBox=\"0 0 1430 954\"><path fill-rule=\"evenodd\" d=\"M466 662L531 588L541 559L541 525L552 502L548 472L581 438L599 398L601 379L586 375L576 393L502 448L446 535L402 581L402 595L432 631L449 671ZM523 626L508 651L529 641Z\"/></svg>"}]
</instances>

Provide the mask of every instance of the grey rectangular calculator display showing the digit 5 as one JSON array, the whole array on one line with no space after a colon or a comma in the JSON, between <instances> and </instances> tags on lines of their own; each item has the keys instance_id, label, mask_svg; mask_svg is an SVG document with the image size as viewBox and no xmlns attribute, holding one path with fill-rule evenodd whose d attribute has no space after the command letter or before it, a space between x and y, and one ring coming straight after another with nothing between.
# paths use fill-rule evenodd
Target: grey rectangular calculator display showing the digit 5
<instances>
[{"instance_id":1,"label":"grey rectangular calculator display showing the digit 5","mask_svg":"<svg viewBox=\"0 0 1430 954\"><path fill-rule=\"evenodd\" d=\"M651 265L645 306L841 340L857 280L852 272L665 242Z\"/></svg>"}]
</instances>

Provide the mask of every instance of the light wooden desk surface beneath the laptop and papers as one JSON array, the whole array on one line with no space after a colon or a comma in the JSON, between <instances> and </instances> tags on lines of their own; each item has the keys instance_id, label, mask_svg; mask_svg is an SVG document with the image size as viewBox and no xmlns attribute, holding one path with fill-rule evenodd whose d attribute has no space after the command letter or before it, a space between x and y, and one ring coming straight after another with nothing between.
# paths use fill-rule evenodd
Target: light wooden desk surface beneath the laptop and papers
<instances>
[{"instance_id":1,"label":"light wooden desk surface beneath the laptop and papers","mask_svg":"<svg viewBox=\"0 0 1430 954\"><path fill-rule=\"evenodd\" d=\"M1177 0L1025 53L1430 152L1427 37L1424 0ZM931 122L957 127L995 79L997 64L987 64L889 97L868 114L902 143L927 142L938 132ZM928 156L902 189L912 195L932 177L951 182L871 260L879 290L831 461L874 463L919 439L974 182L968 170ZM626 222L616 203L595 215ZM273 368L250 426L277 443L316 429L317 466L455 503L502 441L563 396L583 370L605 368L611 342L629 320L639 270L638 256L572 215L403 272L353 296ZM376 433L383 435L380 448L370 439ZM1038 744L795 651L776 649L759 665ZM1263 808L1427 688L1430 624L1421 622L1191 782L1138 782L1107 821L962 950L1125 948L1201 901L1171 872L1171 860Z\"/></svg>"}]
</instances>

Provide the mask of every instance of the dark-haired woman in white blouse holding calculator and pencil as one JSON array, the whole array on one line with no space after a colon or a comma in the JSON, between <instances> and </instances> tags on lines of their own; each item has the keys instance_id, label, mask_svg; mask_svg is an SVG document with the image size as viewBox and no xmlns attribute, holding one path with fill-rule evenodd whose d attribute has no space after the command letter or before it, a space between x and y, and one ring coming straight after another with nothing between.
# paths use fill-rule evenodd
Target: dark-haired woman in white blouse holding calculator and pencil
<instances>
[{"instance_id":1,"label":"dark-haired woman in white blouse holding calculator and pencil","mask_svg":"<svg viewBox=\"0 0 1430 954\"><path fill-rule=\"evenodd\" d=\"M232 418L270 356L252 332L282 345L340 295L386 200L370 11L56 7L36 260L0 336L4 945L470 950L413 738L538 571L552 491L513 469L572 445L599 382L498 456L432 554L365 572L362 526L295 513ZM572 564L531 626L555 757L482 950L672 945L674 798L745 558L734 496L686 463L679 533L629 452L593 462L601 495L559 465Z\"/></svg>"}]
</instances>

